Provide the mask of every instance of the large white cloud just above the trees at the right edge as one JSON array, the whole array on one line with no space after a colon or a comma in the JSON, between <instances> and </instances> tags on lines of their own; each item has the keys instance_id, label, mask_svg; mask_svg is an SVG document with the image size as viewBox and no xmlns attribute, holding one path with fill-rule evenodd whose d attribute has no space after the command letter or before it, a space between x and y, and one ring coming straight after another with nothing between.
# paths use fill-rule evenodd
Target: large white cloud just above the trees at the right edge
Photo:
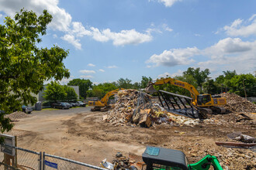
<instances>
[{"instance_id":1,"label":"large white cloud just above the trees at the right edge","mask_svg":"<svg viewBox=\"0 0 256 170\"><path fill-rule=\"evenodd\" d=\"M237 73L252 73L256 68L256 41L243 42L241 39L221 39L204 50L210 59L199 62L202 69L210 71L237 70Z\"/></svg>"}]
</instances>

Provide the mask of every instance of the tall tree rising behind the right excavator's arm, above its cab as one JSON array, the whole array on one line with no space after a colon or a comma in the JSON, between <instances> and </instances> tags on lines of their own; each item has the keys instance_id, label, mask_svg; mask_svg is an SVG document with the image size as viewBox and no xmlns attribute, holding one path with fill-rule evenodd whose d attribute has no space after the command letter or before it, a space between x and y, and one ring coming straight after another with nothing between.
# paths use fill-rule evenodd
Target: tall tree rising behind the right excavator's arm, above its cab
<instances>
[{"instance_id":1,"label":"tall tree rising behind the right excavator's arm, above its cab","mask_svg":"<svg viewBox=\"0 0 256 170\"><path fill-rule=\"evenodd\" d=\"M209 75L209 69L200 71L200 68L189 67L188 70L183 72L183 75L192 75L197 83L197 86L200 87L200 93L202 93L202 83L206 82L206 78Z\"/></svg>"}]
</instances>

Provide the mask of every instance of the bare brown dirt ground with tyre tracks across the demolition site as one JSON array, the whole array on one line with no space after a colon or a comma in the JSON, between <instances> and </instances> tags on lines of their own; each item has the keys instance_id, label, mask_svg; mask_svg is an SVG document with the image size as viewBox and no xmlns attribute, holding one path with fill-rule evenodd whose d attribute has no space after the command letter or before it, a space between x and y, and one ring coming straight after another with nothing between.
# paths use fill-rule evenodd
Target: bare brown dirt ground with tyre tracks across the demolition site
<instances>
[{"instance_id":1,"label":"bare brown dirt ground with tyre tracks across the demolition site","mask_svg":"<svg viewBox=\"0 0 256 170\"><path fill-rule=\"evenodd\" d=\"M99 166L107 158L111 162L117 151L140 161L147 145L174 148L185 152L189 163L207 154L215 155L224 169L255 169L256 155L247 148L225 148L215 141L230 141L227 134L241 131L255 137L253 120L237 122L237 114L213 115L213 123L200 122L194 127L169 124L140 128L132 124L113 125L102 121L106 112L91 112L89 108L72 113L54 110L33 111L31 116L18 118L9 134L18 137L18 146L33 151L71 158ZM221 122L220 122L221 121Z\"/></svg>"}]
</instances>

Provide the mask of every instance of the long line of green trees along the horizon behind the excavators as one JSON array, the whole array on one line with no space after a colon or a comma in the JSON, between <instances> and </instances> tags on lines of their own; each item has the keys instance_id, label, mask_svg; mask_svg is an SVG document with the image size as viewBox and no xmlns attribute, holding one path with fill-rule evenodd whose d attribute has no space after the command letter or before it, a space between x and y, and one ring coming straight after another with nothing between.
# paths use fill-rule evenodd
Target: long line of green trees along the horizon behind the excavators
<instances>
[{"instance_id":1,"label":"long line of green trees along the horizon behind the excavators","mask_svg":"<svg viewBox=\"0 0 256 170\"><path fill-rule=\"evenodd\" d=\"M223 71L223 74L217 76L215 80L209 77L209 74L209 69L200 70L200 68L189 67L188 70L182 73L182 76L175 76L171 78L192 84L199 93L218 94L230 92L237 93L241 97L256 96L256 76L251 73L237 74L236 70L227 70ZM147 87L147 83L149 81L152 81L151 77L142 76L140 82L133 83L132 80L129 80L128 78L119 78L119 80L112 83L99 83L96 85L93 84L91 80L74 79L67 83L67 85L79 87L80 99L85 99L86 97L98 97L100 99L109 91L116 90L118 88L136 90L144 89ZM181 87L175 87L171 84L157 86L155 89L190 96L188 90Z\"/></svg>"}]
</instances>

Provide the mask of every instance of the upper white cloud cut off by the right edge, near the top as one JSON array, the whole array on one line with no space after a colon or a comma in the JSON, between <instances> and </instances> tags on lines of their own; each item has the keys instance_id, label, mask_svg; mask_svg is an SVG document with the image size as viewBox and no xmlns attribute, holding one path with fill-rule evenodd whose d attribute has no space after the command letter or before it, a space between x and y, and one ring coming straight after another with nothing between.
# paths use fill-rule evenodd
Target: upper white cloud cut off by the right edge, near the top
<instances>
[{"instance_id":1,"label":"upper white cloud cut off by the right edge, near the top","mask_svg":"<svg viewBox=\"0 0 256 170\"><path fill-rule=\"evenodd\" d=\"M223 29L229 36L251 36L256 35L256 14L250 19L236 19L230 26L224 26Z\"/></svg>"}]
</instances>

